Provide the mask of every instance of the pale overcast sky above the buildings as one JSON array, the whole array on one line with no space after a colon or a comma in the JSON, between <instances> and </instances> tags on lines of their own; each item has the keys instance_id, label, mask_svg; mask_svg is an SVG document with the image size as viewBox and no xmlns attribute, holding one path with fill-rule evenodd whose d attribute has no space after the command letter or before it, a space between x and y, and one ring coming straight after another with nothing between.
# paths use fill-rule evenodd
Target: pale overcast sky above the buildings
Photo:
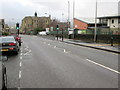
<instances>
[{"instance_id":1,"label":"pale overcast sky above the buildings","mask_svg":"<svg viewBox=\"0 0 120 90\"><path fill-rule=\"evenodd\" d=\"M68 18L68 1L70 2L70 18L73 13L73 0L0 0L0 19L6 22L21 22L25 16L52 16L52 19L66 21ZM75 17L95 17L96 0L74 0ZM98 17L118 15L118 1L97 0ZM46 13L46 14L45 14ZM62 15L64 14L64 15Z\"/></svg>"}]
</instances>

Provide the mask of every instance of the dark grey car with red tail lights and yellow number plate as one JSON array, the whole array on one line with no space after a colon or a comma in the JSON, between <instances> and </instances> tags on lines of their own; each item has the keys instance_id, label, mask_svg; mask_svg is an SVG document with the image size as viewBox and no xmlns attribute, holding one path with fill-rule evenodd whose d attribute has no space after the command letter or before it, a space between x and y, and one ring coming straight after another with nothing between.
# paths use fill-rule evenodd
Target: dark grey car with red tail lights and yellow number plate
<instances>
[{"instance_id":1,"label":"dark grey car with red tail lights and yellow number plate","mask_svg":"<svg viewBox=\"0 0 120 90\"><path fill-rule=\"evenodd\" d=\"M15 54L18 54L19 50L19 43L13 36L0 37L1 52L15 52Z\"/></svg>"}]
</instances>

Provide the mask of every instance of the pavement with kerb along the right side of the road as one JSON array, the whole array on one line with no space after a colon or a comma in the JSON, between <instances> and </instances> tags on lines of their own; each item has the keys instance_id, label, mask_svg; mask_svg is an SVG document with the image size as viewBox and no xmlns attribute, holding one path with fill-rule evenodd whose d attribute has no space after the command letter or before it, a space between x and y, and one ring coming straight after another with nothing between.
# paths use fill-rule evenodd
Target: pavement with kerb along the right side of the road
<instances>
[{"instance_id":1,"label":"pavement with kerb along the right side of the road","mask_svg":"<svg viewBox=\"0 0 120 90\"><path fill-rule=\"evenodd\" d=\"M51 40L57 40L57 38L52 36L41 36L41 37ZM58 40L62 41L61 38L58 38ZM90 42L84 42L82 40L74 40L74 39L66 39L66 38L64 38L63 42L120 54L119 44L113 44L113 46L111 46L111 44L106 44L106 43L90 43Z\"/></svg>"}]
</instances>

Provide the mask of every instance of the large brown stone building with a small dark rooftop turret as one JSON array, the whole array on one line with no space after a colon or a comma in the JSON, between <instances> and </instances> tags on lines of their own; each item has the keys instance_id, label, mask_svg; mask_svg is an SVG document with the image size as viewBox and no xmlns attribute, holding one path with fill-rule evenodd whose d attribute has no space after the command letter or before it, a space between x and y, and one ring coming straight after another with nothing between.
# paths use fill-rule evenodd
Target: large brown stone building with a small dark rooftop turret
<instances>
[{"instance_id":1,"label":"large brown stone building with a small dark rooftop turret","mask_svg":"<svg viewBox=\"0 0 120 90\"><path fill-rule=\"evenodd\" d=\"M34 31L36 28L41 28L45 30L46 28L50 28L51 16L49 17L38 17L35 12L34 16L26 16L22 20L20 32L27 33Z\"/></svg>"}]
</instances>

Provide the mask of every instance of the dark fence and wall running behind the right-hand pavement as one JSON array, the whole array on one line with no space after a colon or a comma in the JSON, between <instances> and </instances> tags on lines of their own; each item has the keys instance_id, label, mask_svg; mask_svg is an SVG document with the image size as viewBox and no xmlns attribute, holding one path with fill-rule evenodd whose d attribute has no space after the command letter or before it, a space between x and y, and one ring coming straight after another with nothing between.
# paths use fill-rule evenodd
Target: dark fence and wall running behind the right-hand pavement
<instances>
[{"instance_id":1,"label":"dark fence and wall running behind the right-hand pavement","mask_svg":"<svg viewBox=\"0 0 120 90\"><path fill-rule=\"evenodd\" d=\"M57 34L58 33L58 34ZM51 31L48 34L53 36L59 36L69 39L78 39L83 40L85 42L93 42L94 41L94 30L84 30L83 32L79 33L79 30L74 30L74 35L68 35L68 30L64 30L63 34L62 31ZM113 33L112 30L108 28L97 29L96 39L97 42L103 43L111 43L111 38L113 38L114 43L120 43L120 34Z\"/></svg>"}]
</instances>

